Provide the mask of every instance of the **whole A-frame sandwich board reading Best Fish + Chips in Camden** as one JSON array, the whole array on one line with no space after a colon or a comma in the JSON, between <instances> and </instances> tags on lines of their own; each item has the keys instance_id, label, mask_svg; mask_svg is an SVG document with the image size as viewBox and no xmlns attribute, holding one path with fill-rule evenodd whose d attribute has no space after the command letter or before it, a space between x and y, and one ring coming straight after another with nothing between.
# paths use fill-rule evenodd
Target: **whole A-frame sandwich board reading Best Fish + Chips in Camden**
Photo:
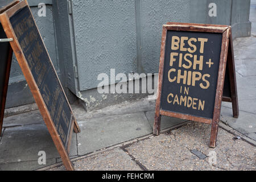
<instances>
[{"instance_id":1,"label":"whole A-frame sandwich board reading Best Fish + Chips in Camden","mask_svg":"<svg viewBox=\"0 0 256 182\"><path fill-rule=\"evenodd\" d=\"M231 27L164 24L154 134L160 132L161 115L208 123L212 124L209 146L215 147L221 101L232 102L237 118Z\"/></svg>"}]
</instances>

